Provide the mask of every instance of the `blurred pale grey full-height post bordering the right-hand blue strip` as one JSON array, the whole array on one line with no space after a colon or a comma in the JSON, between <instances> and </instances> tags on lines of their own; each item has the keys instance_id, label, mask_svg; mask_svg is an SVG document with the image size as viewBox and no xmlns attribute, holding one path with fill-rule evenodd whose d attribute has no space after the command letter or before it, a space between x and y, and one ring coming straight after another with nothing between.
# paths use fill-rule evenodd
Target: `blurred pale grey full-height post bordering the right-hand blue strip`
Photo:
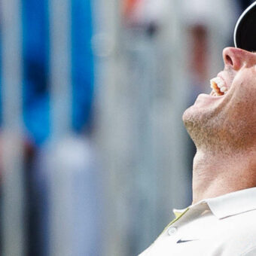
<instances>
[{"instance_id":1,"label":"blurred pale grey full-height post bordering the right-hand blue strip","mask_svg":"<svg viewBox=\"0 0 256 256\"><path fill-rule=\"evenodd\" d=\"M117 170L120 159L116 160L116 147L120 143L118 133L117 95L119 93L120 78L123 78L123 66L118 50L120 47L120 1L119 0L93 0L93 50L96 56L96 102L99 108L97 118L96 141L102 150L102 161L105 175L105 198L111 202L111 207L105 209L104 255L125 255L123 247L127 245L123 239L123 227L120 225L118 215L123 209L123 201L118 184ZM117 117L118 116L118 117ZM114 136L113 136L114 134ZM124 245L125 244L125 245Z\"/></svg>"}]
</instances>

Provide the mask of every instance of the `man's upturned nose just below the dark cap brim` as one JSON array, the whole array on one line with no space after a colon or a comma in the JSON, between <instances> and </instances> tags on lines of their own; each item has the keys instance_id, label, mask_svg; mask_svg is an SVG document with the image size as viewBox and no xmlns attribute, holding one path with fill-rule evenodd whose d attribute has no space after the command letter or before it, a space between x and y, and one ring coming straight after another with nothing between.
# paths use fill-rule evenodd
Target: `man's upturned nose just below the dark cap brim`
<instances>
[{"instance_id":1,"label":"man's upturned nose just below the dark cap brim","mask_svg":"<svg viewBox=\"0 0 256 256\"><path fill-rule=\"evenodd\" d=\"M248 52L234 47L227 47L223 50L225 66L230 66L234 70L239 70L243 65L251 66L256 64L255 53Z\"/></svg>"}]
</instances>

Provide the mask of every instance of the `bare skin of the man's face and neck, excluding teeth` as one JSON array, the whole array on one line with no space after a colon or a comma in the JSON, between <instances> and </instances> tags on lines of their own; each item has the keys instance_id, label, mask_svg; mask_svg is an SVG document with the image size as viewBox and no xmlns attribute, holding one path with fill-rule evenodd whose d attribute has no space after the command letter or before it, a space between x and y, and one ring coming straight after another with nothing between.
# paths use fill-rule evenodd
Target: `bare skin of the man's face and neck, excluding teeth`
<instances>
[{"instance_id":1,"label":"bare skin of the man's face and neck, excluding teeth","mask_svg":"<svg viewBox=\"0 0 256 256\"><path fill-rule=\"evenodd\" d=\"M228 47L224 96L200 94L183 114L197 147L193 203L256 186L256 53Z\"/></svg>"}]
</instances>

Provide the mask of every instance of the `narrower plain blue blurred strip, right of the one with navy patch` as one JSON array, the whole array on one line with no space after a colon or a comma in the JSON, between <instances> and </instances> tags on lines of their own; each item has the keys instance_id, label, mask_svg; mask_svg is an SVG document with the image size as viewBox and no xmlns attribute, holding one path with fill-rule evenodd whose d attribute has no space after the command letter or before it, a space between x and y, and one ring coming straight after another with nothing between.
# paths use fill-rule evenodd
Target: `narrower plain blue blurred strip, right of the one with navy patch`
<instances>
[{"instance_id":1,"label":"narrower plain blue blurred strip, right of the one with navy patch","mask_svg":"<svg viewBox=\"0 0 256 256\"><path fill-rule=\"evenodd\" d=\"M90 122L93 99L93 33L90 1L72 1L72 125L80 132Z\"/></svg>"}]
</instances>

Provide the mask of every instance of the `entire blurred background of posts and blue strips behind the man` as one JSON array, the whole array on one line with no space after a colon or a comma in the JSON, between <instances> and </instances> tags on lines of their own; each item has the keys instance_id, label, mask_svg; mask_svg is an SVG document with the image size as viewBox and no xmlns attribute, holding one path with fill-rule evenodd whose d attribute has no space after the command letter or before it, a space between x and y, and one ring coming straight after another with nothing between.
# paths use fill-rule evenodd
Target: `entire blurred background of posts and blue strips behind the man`
<instances>
[{"instance_id":1,"label":"entire blurred background of posts and blue strips behind the man","mask_svg":"<svg viewBox=\"0 0 256 256\"><path fill-rule=\"evenodd\" d=\"M190 205L181 116L251 2L0 2L0 255L137 255Z\"/></svg>"}]
</instances>

